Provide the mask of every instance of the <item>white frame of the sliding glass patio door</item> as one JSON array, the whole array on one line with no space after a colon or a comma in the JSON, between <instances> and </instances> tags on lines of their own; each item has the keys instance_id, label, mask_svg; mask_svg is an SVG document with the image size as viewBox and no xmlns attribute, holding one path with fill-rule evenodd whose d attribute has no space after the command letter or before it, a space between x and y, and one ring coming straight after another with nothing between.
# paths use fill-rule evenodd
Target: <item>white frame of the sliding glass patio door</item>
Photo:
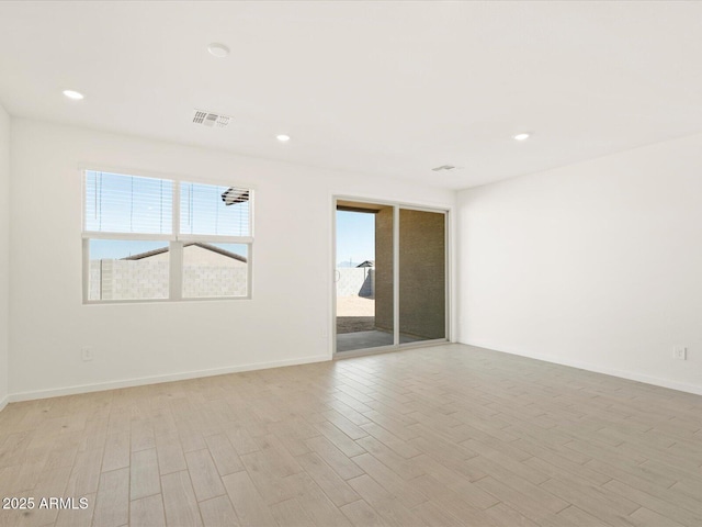
<instances>
[{"instance_id":1,"label":"white frame of the sliding glass patio door","mask_svg":"<svg viewBox=\"0 0 702 527\"><path fill-rule=\"evenodd\" d=\"M452 291L452 267L451 267L451 210L449 208L434 208L421 204L394 202L386 200L375 200L372 198L358 198L354 195L335 194L332 195L331 210L331 350L332 359L343 359L349 357L360 357L364 355L387 354L409 348L421 348L427 346L441 346L451 341L451 291ZM377 346L374 348L363 348L350 351L337 351L337 205L339 201L354 201L372 205L393 208L393 344L388 346ZM444 337L419 340L414 343L399 343L399 213L400 210L431 212L444 215Z\"/></svg>"}]
</instances>

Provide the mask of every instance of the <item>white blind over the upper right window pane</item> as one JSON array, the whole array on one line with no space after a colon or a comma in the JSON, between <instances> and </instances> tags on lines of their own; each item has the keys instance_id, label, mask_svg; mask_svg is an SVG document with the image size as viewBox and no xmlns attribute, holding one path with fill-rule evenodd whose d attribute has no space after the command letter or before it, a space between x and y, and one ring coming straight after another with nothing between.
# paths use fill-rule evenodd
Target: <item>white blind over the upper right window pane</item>
<instances>
[{"instance_id":1,"label":"white blind over the upper right window pane","mask_svg":"<svg viewBox=\"0 0 702 527\"><path fill-rule=\"evenodd\" d=\"M248 189L180 183L180 232L186 235L251 236Z\"/></svg>"}]
</instances>

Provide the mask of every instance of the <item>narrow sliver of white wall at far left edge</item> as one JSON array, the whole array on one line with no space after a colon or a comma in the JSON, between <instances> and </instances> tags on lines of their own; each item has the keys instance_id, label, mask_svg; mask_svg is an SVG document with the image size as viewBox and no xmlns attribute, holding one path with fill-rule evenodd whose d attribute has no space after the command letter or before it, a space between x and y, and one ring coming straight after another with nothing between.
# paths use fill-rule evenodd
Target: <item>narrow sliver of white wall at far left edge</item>
<instances>
[{"instance_id":1,"label":"narrow sliver of white wall at far left edge","mask_svg":"<svg viewBox=\"0 0 702 527\"><path fill-rule=\"evenodd\" d=\"M0 410L7 404L10 344L10 115L0 106Z\"/></svg>"}]
</instances>

